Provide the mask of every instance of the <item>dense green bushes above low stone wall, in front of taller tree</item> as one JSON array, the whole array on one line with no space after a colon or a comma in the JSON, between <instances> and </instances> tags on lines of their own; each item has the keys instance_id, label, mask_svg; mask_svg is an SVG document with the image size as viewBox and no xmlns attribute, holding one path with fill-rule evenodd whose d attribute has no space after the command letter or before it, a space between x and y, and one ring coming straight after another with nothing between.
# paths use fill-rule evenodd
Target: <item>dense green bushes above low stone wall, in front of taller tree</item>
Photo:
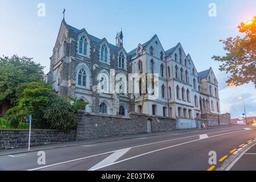
<instances>
[{"instance_id":1,"label":"dense green bushes above low stone wall, in front of taller tree","mask_svg":"<svg viewBox=\"0 0 256 182\"><path fill-rule=\"evenodd\" d=\"M14 128L31 114L34 129L57 130L75 129L77 111L81 106L88 104L75 98L61 98L44 82L20 84L14 103L17 106L8 110L5 115Z\"/></svg>"}]
</instances>

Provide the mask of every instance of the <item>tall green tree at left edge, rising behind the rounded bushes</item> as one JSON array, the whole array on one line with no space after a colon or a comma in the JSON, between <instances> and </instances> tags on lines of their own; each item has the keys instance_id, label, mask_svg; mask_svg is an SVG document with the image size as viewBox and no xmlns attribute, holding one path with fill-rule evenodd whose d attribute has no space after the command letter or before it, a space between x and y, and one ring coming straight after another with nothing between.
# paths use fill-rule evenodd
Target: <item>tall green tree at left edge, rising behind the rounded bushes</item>
<instances>
[{"instance_id":1,"label":"tall green tree at left edge, rising behind the rounded bushes","mask_svg":"<svg viewBox=\"0 0 256 182\"><path fill-rule=\"evenodd\" d=\"M19 84L43 81L43 68L29 57L0 57L0 104L15 98Z\"/></svg>"}]
</instances>

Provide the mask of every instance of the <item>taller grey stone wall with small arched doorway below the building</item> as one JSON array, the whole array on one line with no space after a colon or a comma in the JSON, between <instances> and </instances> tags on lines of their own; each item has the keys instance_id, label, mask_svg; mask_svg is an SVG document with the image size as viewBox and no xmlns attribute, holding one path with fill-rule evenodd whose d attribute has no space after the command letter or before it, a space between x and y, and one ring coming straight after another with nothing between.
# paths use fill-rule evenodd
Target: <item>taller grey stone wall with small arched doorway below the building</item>
<instances>
[{"instance_id":1,"label":"taller grey stone wall with small arched doorway below the building","mask_svg":"<svg viewBox=\"0 0 256 182\"><path fill-rule=\"evenodd\" d=\"M176 129L174 119L130 113L128 117L98 114L79 114L77 140L147 133L147 121L152 121L152 132Z\"/></svg>"}]
</instances>

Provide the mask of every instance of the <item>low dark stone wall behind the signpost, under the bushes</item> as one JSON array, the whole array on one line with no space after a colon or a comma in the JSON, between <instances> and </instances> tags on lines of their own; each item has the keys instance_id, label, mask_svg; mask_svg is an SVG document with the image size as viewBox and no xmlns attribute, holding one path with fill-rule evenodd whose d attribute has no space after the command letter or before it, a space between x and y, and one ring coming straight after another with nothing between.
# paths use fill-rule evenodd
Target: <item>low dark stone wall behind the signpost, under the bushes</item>
<instances>
[{"instance_id":1,"label":"low dark stone wall behind the signpost, under the bushes","mask_svg":"<svg viewBox=\"0 0 256 182\"><path fill-rule=\"evenodd\" d=\"M32 130L31 146L74 141L76 131ZM0 150L28 146L28 130L0 130Z\"/></svg>"}]
</instances>

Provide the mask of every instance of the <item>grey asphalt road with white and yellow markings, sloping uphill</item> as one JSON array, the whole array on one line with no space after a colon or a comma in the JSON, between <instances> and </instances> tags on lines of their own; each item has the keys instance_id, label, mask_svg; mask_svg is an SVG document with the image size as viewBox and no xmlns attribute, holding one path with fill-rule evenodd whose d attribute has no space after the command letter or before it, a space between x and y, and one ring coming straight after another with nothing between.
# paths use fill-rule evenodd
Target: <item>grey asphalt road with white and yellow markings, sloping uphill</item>
<instances>
[{"instance_id":1,"label":"grey asphalt road with white and yellow markings, sloping uphill","mask_svg":"<svg viewBox=\"0 0 256 182\"><path fill-rule=\"evenodd\" d=\"M43 165L38 164L38 152L0 156L0 170L256 171L256 127L190 131L44 152Z\"/></svg>"}]
</instances>

